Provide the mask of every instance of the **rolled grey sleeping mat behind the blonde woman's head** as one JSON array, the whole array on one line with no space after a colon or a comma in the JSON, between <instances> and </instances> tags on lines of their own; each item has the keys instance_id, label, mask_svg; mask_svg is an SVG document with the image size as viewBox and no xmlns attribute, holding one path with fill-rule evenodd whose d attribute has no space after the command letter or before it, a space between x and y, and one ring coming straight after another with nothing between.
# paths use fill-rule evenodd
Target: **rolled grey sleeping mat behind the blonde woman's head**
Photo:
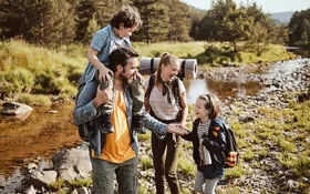
<instances>
[{"instance_id":1,"label":"rolled grey sleeping mat behind the blonde woman's head","mask_svg":"<svg viewBox=\"0 0 310 194\"><path fill-rule=\"evenodd\" d=\"M142 58L138 72L142 75L153 74L159 65L161 58ZM196 59L179 59L180 69L178 76L180 79L196 79L197 76L197 60Z\"/></svg>"}]
</instances>

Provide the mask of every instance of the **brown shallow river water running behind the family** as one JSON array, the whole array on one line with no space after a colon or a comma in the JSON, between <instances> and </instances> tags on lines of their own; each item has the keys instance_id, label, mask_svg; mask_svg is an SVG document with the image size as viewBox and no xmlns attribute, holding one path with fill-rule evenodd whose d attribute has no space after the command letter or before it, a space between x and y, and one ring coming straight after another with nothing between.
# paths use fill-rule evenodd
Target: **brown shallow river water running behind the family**
<instances>
[{"instance_id":1,"label":"brown shallow river water running behind the family","mask_svg":"<svg viewBox=\"0 0 310 194\"><path fill-rule=\"evenodd\" d=\"M280 70L296 67L290 65L290 62L293 61L283 62ZM185 79L184 83L188 104L194 104L199 94L208 91L226 99L239 94L252 95L262 89L257 82ZM0 183L19 176L20 166L31 161L44 162L59 150L82 144L72 122L73 106L72 102L54 104L49 109L34 106L25 121L0 115Z\"/></svg>"}]
</instances>

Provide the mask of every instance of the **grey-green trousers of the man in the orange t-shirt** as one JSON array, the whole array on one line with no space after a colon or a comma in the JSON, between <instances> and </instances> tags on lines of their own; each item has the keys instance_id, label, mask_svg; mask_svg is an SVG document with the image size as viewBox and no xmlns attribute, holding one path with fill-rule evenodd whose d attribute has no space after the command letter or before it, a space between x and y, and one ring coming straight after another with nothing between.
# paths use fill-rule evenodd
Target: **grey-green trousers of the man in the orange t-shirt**
<instances>
[{"instance_id":1,"label":"grey-green trousers of the man in the orange t-shirt","mask_svg":"<svg viewBox=\"0 0 310 194\"><path fill-rule=\"evenodd\" d=\"M121 164L105 160L93 159L93 192L94 194L114 194L114 174L118 183L120 194L137 194L138 174L137 157L127 160Z\"/></svg>"}]
</instances>

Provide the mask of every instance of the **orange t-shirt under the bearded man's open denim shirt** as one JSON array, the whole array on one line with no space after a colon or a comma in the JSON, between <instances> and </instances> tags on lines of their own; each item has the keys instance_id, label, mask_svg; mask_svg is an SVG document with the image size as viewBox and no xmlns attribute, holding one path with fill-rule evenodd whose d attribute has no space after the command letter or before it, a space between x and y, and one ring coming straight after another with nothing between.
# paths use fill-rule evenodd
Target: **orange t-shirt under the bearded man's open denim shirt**
<instances>
[{"instance_id":1,"label":"orange t-shirt under the bearded man's open denim shirt","mask_svg":"<svg viewBox=\"0 0 310 194\"><path fill-rule=\"evenodd\" d=\"M124 90L118 92L115 90L115 105L111 115L111 122L114 127L114 133L106 134L106 143L102 150L101 157L113 163L122 163L136 156L131 146L131 134L126 116L126 105Z\"/></svg>"}]
</instances>

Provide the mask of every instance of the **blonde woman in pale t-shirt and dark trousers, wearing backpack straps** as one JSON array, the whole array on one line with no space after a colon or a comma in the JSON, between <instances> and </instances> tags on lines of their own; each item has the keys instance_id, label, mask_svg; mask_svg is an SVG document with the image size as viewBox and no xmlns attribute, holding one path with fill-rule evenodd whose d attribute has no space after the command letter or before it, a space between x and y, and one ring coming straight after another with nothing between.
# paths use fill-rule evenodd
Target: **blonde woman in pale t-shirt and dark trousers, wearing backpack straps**
<instances>
[{"instance_id":1,"label":"blonde woman in pale t-shirt and dark trousers, wearing backpack straps","mask_svg":"<svg viewBox=\"0 0 310 194\"><path fill-rule=\"evenodd\" d=\"M163 123L178 123L182 127L185 127L188 106L185 86L177 78L179 69L180 64L177 57L170 53L163 54L157 71L145 81L144 103L151 115ZM179 135L167 134L159 136L156 133L152 133L157 194L165 193L164 177L172 194L180 193L176 169L182 144L183 140Z\"/></svg>"}]
</instances>

